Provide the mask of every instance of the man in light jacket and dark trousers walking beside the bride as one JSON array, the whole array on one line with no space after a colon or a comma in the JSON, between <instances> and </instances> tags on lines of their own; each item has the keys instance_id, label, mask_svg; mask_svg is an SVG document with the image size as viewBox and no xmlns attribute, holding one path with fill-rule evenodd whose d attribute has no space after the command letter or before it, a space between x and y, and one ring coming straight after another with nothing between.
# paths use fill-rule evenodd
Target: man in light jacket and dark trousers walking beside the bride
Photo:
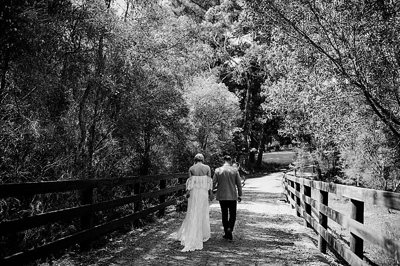
<instances>
[{"instance_id":1,"label":"man in light jacket and dark trousers walking beside the bride","mask_svg":"<svg viewBox=\"0 0 400 266\"><path fill-rule=\"evenodd\" d=\"M222 213L222 226L225 235L224 239L232 240L232 231L236 221L236 201L241 202L241 182L239 171L230 166L230 156L223 157L223 165L215 169L212 178L212 190L218 184L216 191L216 200L219 201ZM237 193L236 188L237 187ZM229 213L229 219L228 219Z\"/></svg>"}]
</instances>

